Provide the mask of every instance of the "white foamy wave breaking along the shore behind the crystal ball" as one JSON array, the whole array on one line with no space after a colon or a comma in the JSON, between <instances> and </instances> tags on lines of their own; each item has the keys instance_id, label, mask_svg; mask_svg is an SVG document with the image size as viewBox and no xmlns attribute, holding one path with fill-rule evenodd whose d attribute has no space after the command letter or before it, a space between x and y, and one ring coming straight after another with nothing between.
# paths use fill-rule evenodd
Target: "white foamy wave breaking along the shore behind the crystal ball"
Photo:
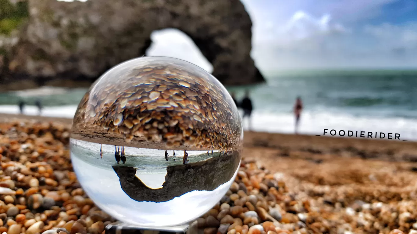
<instances>
[{"instance_id":1,"label":"white foamy wave breaking along the shore behind the crystal ball","mask_svg":"<svg viewBox=\"0 0 417 234\"><path fill-rule=\"evenodd\" d=\"M76 105L45 107L42 115L48 117L73 118ZM0 113L18 114L16 105L0 105ZM38 115L35 106L26 106L25 115ZM252 130L259 132L294 133L294 115L290 112L253 112L251 118ZM244 129L248 130L248 119L243 119ZM401 140L417 140L417 119L404 117L364 117L349 115L347 113L326 111L304 111L299 123L300 134L323 135L324 129L328 129L325 135L330 136L332 129L356 132L383 132L400 134ZM359 135L358 134L358 135ZM338 134L336 136L339 136Z\"/></svg>"}]
</instances>

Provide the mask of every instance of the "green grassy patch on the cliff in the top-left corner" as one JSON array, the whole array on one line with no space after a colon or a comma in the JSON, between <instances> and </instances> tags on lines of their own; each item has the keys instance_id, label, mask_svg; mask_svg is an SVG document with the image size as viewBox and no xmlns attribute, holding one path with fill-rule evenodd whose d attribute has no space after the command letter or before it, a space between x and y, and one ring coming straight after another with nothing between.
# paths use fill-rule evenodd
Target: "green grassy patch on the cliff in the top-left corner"
<instances>
[{"instance_id":1,"label":"green grassy patch on the cliff in the top-left corner","mask_svg":"<svg viewBox=\"0 0 417 234\"><path fill-rule=\"evenodd\" d=\"M0 34L10 35L28 17L27 1L13 5L9 0L0 0Z\"/></svg>"}]
</instances>

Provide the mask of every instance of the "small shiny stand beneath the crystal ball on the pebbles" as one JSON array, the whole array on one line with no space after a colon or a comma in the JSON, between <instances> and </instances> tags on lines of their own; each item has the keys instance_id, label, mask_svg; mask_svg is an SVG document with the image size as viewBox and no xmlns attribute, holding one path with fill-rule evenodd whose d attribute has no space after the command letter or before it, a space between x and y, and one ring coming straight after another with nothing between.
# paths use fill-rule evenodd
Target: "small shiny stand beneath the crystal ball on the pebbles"
<instances>
[{"instance_id":1,"label":"small shiny stand beneath the crystal ball on the pebbles","mask_svg":"<svg viewBox=\"0 0 417 234\"><path fill-rule=\"evenodd\" d=\"M176 227L140 227L123 222L106 226L105 234L198 234L197 221Z\"/></svg>"}]
</instances>

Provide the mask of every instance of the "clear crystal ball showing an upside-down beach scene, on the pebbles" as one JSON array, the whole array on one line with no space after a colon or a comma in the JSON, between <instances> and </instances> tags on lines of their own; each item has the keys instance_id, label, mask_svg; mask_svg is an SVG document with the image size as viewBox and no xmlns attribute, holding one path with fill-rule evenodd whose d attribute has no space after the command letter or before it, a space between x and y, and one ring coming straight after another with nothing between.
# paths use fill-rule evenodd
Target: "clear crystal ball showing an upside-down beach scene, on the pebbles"
<instances>
[{"instance_id":1,"label":"clear crystal ball showing an upside-down beach scene, on the pebbles","mask_svg":"<svg viewBox=\"0 0 417 234\"><path fill-rule=\"evenodd\" d=\"M70 154L84 191L114 218L186 224L226 194L241 162L241 118L210 73L170 57L108 70L73 119Z\"/></svg>"}]
</instances>

